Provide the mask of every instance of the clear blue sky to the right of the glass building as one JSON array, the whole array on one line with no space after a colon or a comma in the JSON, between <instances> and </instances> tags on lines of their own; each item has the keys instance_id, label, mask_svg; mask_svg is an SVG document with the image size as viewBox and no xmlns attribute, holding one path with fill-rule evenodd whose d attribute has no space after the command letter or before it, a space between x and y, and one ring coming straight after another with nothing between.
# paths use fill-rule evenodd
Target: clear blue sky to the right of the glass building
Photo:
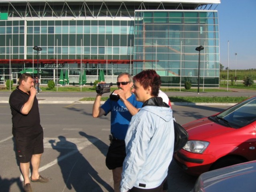
<instances>
[{"instance_id":1,"label":"clear blue sky to the right of the glass building","mask_svg":"<svg viewBox=\"0 0 256 192\"><path fill-rule=\"evenodd\" d=\"M256 68L256 0L221 0L216 10L220 63L230 69Z\"/></svg>"}]
</instances>

